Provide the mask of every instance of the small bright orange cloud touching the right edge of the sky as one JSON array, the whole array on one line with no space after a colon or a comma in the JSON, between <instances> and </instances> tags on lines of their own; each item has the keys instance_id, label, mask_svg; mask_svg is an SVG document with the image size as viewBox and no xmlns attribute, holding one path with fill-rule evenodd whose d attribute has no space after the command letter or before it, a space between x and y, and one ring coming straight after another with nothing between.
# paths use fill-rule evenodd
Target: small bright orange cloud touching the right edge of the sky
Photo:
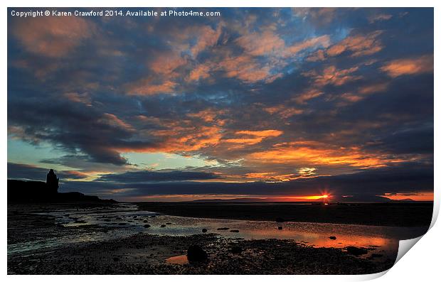
<instances>
[{"instance_id":1,"label":"small bright orange cloud touching the right edge of the sky","mask_svg":"<svg viewBox=\"0 0 441 282\"><path fill-rule=\"evenodd\" d=\"M400 75L420 75L433 72L433 54L423 55L419 58L393 60L380 69L394 78Z\"/></svg>"}]
</instances>

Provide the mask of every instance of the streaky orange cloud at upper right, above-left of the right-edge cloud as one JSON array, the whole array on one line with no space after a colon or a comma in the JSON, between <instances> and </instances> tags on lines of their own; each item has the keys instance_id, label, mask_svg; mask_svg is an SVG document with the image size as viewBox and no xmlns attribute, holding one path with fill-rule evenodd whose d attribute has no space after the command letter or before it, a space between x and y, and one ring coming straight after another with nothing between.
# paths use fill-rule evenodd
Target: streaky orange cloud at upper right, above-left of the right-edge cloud
<instances>
[{"instance_id":1,"label":"streaky orange cloud at upper right, above-left of the right-edge cloud","mask_svg":"<svg viewBox=\"0 0 441 282\"><path fill-rule=\"evenodd\" d=\"M381 31L374 31L368 33L366 36L349 36L328 48L326 55L334 57L346 51L351 53L351 57L372 55L383 49L383 45L380 40L378 40L378 36L380 36L381 33Z\"/></svg>"}]
</instances>

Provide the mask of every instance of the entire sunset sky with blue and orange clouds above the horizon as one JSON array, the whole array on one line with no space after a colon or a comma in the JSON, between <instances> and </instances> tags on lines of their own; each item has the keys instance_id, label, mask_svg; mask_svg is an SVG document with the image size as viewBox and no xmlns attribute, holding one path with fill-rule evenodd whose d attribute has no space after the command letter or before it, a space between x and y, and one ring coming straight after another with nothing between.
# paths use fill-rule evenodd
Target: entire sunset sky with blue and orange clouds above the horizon
<instances>
[{"instance_id":1,"label":"entire sunset sky with blue and orange clouds above the horizon","mask_svg":"<svg viewBox=\"0 0 441 282\"><path fill-rule=\"evenodd\" d=\"M8 178L53 168L60 192L124 201L432 200L433 9L189 10L221 16L9 9Z\"/></svg>"}]
</instances>

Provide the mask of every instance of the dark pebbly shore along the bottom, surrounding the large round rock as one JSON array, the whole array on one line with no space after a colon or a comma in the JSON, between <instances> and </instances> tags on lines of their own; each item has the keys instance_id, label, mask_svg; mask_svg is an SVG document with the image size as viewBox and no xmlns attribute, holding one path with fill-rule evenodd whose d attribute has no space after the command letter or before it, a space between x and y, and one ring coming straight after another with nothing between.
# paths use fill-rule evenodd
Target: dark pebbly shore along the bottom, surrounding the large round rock
<instances>
[{"instance_id":1,"label":"dark pebbly shore along the bottom, surrounding the large round rock","mask_svg":"<svg viewBox=\"0 0 441 282\"><path fill-rule=\"evenodd\" d=\"M206 261L170 264L197 244ZM238 251L239 250L239 251ZM106 242L75 244L8 257L9 274L363 274L393 261L361 259L344 249L314 248L291 240L238 240L214 234L171 237L135 234Z\"/></svg>"}]
</instances>

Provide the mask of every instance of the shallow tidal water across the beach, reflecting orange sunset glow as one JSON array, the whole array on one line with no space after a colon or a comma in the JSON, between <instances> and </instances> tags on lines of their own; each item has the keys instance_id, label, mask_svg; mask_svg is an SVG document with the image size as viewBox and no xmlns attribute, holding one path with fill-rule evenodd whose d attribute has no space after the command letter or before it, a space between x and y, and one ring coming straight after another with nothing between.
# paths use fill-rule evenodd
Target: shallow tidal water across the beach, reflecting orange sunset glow
<instances>
[{"instance_id":1,"label":"shallow tidal water across the beach, reflecting orange sunset glow","mask_svg":"<svg viewBox=\"0 0 441 282\"><path fill-rule=\"evenodd\" d=\"M371 255L394 257L398 251L398 240L420 234L420 228L376 227L355 224L327 224L309 222L267 222L230 219L201 219L157 215L154 212L137 210L136 205L121 204L117 208L93 208L87 210L59 210L46 215L55 217L56 224L65 227L99 226L111 227L106 232L78 232L67 237L43 239L8 246L8 253L44 249L66 242L94 242L117 239L139 232L183 236L215 233L231 239L292 239L314 247L344 248L363 247ZM162 227L161 227L162 226ZM279 229L282 227L282 229ZM238 230L238 232L231 232ZM205 233L204 233L205 234ZM330 239L332 237L333 239ZM334 237L336 237L334 239ZM375 250L375 251L373 251ZM179 260L176 256L171 261ZM181 258L182 259L182 258ZM171 262L172 263L172 262ZM174 263L174 262L173 262Z\"/></svg>"}]
</instances>

